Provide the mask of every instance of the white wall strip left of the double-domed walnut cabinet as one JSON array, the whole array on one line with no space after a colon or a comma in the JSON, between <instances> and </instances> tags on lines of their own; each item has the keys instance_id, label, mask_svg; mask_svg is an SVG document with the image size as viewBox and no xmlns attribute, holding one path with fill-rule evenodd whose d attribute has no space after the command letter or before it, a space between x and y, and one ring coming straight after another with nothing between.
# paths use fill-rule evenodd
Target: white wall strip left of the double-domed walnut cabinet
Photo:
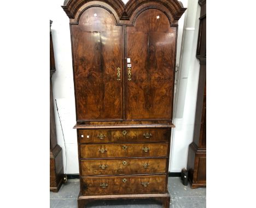
<instances>
[{"instance_id":1,"label":"white wall strip left of the double-domed walnut cabinet","mask_svg":"<svg viewBox=\"0 0 256 208\"><path fill-rule=\"evenodd\" d=\"M73 68L71 54L71 39L69 31L69 19L61 8L63 0L51 2L50 19L53 20L51 31L53 35L54 56L56 72L53 75L53 96L57 101L61 118L63 134L67 150L67 174L79 173L77 133L73 129L75 125L75 101ZM57 142L62 148L64 169L66 167L65 145L61 131L60 120L55 105L55 121Z\"/></svg>"}]
</instances>

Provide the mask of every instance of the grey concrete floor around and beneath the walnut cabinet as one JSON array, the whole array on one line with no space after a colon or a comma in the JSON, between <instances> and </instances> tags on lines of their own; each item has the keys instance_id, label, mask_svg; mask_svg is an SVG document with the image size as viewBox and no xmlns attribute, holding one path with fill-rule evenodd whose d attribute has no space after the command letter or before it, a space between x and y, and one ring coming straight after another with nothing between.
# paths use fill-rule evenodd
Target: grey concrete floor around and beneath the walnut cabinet
<instances>
[{"instance_id":1,"label":"grey concrete floor around and beneath the walnut cabinet","mask_svg":"<svg viewBox=\"0 0 256 208\"><path fill-rule=\"evenodd\" d=\"M170 208L205 208L206 188L191 189L183 186L180 178L168 179L168 190L171 195ZM50 192L50 208L77 208L79 179L68 180L58 193ZM90 208L157 208L161 204L154 200L109 200L95 201Z\"/></svg>"}]
</instances>

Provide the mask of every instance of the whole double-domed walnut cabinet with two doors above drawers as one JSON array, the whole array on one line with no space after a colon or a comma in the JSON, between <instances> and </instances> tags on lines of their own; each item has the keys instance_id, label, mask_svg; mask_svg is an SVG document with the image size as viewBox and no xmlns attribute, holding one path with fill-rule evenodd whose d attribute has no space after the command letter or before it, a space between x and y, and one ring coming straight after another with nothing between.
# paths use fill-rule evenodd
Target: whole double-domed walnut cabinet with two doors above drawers
<instances>
[{"instance_id":1,"label":"whole double-domed walnut cabinet with two doors above drawers","mask_svg":"<svg viewBox=\"0 0 256 208\"><path fill-rule=\"evenodd\" d=\"M80 171L78 207L167 191L176 0L67 0Z\"/></svg>"}]
</instances>

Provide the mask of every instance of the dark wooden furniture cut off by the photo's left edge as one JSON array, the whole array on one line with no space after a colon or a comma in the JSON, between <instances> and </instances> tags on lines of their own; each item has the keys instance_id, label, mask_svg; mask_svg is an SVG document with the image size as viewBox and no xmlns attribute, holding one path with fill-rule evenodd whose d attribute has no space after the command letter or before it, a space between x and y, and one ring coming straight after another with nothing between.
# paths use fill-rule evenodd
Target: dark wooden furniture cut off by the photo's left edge
<instances>
[{"instance_id":1,"label":"dark wooden furniture cut off by the photo's left edge","mask_svg":"<svg viewBox=\"0 0 256 208\"><path fill-rule=\"evenodd\" d=\"M52 22L53 21L50 20L50 28ZM50 191L58 192L63 182L63 162L62 149L60 145L57 144L53 84L51 82L51 76L55 71L53 39L51 38L50 30Z\"/></svg>"}]
</instances>

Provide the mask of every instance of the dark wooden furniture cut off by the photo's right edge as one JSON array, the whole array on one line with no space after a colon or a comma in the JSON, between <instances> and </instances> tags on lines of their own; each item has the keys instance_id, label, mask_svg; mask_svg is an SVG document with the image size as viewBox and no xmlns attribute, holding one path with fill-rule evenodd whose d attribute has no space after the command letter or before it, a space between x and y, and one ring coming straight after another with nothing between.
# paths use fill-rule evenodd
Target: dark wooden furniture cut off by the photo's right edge
<instances>
[{"instance_id":1,"label":"dark wooden furniture cut off by the photo's right edge","mask_svg":"<svg viewBox=\"0 0 256 208\"><path fill-rule=\"evenodd\" d=\"M206 0L201 6L196 58L200 60L193 143L189 145L188 172L191 188L206 186Z\"/></svg>"}]
</instances>

